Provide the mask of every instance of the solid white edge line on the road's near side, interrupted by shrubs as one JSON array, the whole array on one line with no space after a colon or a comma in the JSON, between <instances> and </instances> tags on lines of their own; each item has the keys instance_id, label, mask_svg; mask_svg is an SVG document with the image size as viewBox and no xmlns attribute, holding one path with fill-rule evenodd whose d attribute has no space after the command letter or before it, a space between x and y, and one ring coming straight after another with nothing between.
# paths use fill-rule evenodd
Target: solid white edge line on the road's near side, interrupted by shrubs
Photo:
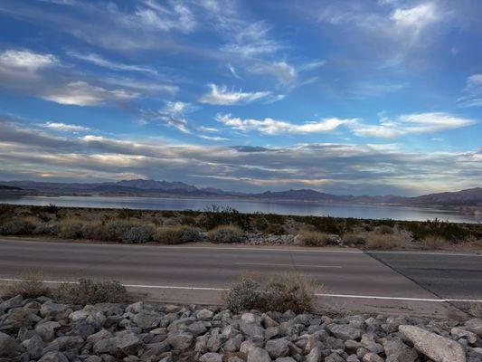
<instances>
[{"instance_id":1,"label":"solid white edge line on the road's near side, interrupted by shrubs","mask_svg":"<svg viewBox=\"0 0 482 362\"><path fill-rule=\"evenodd\" d=\"M0 278L0 281L25 281L23 279L14 278ZM43 281L45 283L60 284L67 282L70 284L78 284L77 281ZM145 285L145 284L124 284L128 288L146 288L146 289L166 289L166 290L184 290L184 291L227 291L226 288L210 288L210 287L184 287L176 285ZM456 299L429 299L429 298L404 298L404 297L383 297L377 295L351 295L351 294L315 294L316 297L333 297L333 298L352 298L365 300L411 300L411 301L433 301L433 302L447 302L447 301L465 301L470 303L482 303L482 300L456 300Z\"/></svg>"}]
</instances>

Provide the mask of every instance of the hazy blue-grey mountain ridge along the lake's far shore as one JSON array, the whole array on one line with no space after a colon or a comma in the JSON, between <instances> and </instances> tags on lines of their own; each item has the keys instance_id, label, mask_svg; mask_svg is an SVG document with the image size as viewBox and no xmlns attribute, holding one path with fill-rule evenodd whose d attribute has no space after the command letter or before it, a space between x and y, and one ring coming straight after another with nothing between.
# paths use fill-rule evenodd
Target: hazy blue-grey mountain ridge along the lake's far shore
<instances>
[{"instance_id":1,"label":"hazy blue-grey mountain ridge along the lake's far shore","mask_svg":"<svg viewBox=\"0 0 482 362\"><path fill-rule=\"evenodd\" d=\"M138 195L138 196L213 196L255 198L262 200L311 201L325 203L363 203L398 205L482 206L482 187L457 192L405 197L399 195L331 195L312 189L266 191L263 193L234 193L221 189L156 180L122 180L104 183L50 183L36 181L0 182L0 190L24 191L25 193L48 193L53 195Z\"/></svg>"}]
</instances>

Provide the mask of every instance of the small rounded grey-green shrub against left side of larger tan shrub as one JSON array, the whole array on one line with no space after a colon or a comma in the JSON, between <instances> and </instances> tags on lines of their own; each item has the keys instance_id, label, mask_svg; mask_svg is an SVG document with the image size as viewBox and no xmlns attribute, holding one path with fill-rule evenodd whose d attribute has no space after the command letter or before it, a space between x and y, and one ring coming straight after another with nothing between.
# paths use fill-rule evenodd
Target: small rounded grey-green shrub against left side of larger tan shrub
<instances>
[{"instance_id":1,"label":"small rounded grey-green shrub against left side of larger tan shrub","mask_svg":"<svg viewBox=\"0 0 482 362\"><path fill-rule=\"evenodd\" d=\"M240 281L233 283L224 294L226 308L234 313L255 308L259 300L259 287L258 281L242 277Z\"/></svg>"}]
</instances>

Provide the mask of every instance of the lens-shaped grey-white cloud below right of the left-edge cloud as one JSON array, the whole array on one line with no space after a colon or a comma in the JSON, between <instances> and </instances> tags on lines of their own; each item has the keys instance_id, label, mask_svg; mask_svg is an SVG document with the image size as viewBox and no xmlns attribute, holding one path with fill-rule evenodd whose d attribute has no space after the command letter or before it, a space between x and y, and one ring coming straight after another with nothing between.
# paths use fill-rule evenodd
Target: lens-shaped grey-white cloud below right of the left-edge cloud
<instances>
[{"instance_id":1,"label":"lens-shaped grey-white cloud below right of the left-edge cloud","mask_svg":"<svg viewBox=\"0 0 482 362\"><path fill-rule=\"evenodd\" d=\"M138 94L121 89L106 90L90 85L85 81L72 81L60 88L45 90L40 97L59 104L96 106L108 100L122 101L137 98Z\"/></svg>"}]
</instances>

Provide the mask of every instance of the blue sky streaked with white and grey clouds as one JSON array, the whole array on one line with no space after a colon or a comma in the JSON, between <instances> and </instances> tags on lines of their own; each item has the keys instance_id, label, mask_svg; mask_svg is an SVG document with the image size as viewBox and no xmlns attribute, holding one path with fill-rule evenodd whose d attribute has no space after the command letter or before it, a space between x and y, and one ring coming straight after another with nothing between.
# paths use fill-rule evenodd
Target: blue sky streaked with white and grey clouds
<instances>
[{"instance_id":1,"label":"blue sky streaked with white and grey clouds","mask_svg":"<svg viewBox=\"0 0 482 362\"><path fill-rule=\"evenodd\" d=\"M0 180L482 186L479 0L0 0Z\"/></svg>"}]
</instances>

